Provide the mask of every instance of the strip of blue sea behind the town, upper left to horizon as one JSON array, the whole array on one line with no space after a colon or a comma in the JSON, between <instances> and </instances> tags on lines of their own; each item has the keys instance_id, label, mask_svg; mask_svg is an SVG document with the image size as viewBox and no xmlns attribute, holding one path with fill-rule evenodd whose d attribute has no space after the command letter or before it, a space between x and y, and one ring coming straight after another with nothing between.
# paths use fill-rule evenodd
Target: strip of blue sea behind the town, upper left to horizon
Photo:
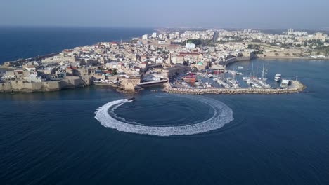
<instances>
[{"instance_id":1,"label":"strip of blue sea behind the town, upper left to horizon","mask_svg":"<svg viewBox=\"0 0 329 185\"><path fill-rule=\"evenodd\" d=\"M152 32L149 28L0 27L0 64L101 41L125 41Z\"/></svg>"}]
</instances>

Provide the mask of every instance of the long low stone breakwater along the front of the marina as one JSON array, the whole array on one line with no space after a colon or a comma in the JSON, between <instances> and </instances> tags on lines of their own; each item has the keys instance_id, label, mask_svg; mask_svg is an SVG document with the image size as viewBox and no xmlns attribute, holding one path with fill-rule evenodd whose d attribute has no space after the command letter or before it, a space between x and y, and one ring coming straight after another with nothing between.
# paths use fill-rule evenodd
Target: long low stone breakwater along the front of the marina
<instances>
[{"instance_id":1,"label":"long low stone breakwater along the front of the marina","mask_svg":"<svg viewBox=\"0 0 329 185\"><path fill-rule=\"evenodd\" d=\"M162 90L167 93L178 94L283 94L283 93L299 93L306 88L305 85L299 81L292 81L289 88L285 89L256 89L256 88L237 88L237 89L225 89L225 88L206 88L206 89L190 89L190 88L172 88L168 83Z\"/></svg>"}]
</instances>

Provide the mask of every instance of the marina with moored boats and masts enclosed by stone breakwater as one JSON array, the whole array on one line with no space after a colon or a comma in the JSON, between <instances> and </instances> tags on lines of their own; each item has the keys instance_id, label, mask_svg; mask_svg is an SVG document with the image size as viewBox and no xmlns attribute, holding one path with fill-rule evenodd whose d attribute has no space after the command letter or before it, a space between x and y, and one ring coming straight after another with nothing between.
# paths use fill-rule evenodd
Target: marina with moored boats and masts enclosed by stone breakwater
<instances>
[{"instance_id":1,"label":"marina with moored boats and masts enclosed by stone breakwater","mask_svg":"<svg viewBox=\"0 0 329 185\"><path fill-rule=\"evenodd\" d=\"M240 66L240 64L244 64L244 66ZM306 88L300 81L297 81L297 78L296 80L284 79L281 81L282 75L273 75L274 70L268 69L268 65L266 61L251 60L228 64L222 71L207 69L195 74L189 72L166 83L163 91L186 94L280 94L298 93ZM273 78L267 78L271 77L269 74L273 75ZM280 75L280 81L277 81L278 75Z\"/></svg>"}]
</instances>

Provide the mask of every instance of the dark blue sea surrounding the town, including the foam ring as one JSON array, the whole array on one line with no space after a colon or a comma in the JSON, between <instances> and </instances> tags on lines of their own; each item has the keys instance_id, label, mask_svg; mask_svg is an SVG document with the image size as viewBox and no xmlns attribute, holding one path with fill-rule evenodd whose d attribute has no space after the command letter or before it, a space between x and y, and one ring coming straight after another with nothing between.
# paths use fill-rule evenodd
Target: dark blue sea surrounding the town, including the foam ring
<instances>
[{"instance_id":1,"label":"dark blue sea surrounding the town, including the foam ring","mask_svg":"<svg viewBox=\"0 0 329 185\"><path fill-rule=\"evenodd\" d=\"M152 32L1 28L0 60ZM159 88L128 95L105 86L1 93L0 184L329 184L329 61L257 59L229 68L248 74L263 64L268 81L280 73L307 88L192 97ZM104 106L130 97L136 100ZM103 121L95 118L100 110L108 113ZM150 134L161 130L169 134Z\"/></svg>"}]
</instances>

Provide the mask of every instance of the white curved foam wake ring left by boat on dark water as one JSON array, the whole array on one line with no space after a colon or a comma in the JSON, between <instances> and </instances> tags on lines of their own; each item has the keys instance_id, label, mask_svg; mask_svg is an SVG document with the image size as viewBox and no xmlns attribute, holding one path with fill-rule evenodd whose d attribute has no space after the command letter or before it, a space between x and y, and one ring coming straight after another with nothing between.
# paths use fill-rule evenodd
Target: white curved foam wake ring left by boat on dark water
<instances>
[{"instance_id":1,"label":"white curved foam wake ring left by boat on dark water","mask_svg":"<svg viewBox=\"0 0 329 185\"><path fill-rule=\"evenodd\" d=\"M170 135L195 135L203 132L209 132L211 130L217 130L223 127L226 123L233 121L233 111L226 106L223 102L209 99L206 97L198 96L198 98L191 96L183 96L198 100L214 109L214 115L206 121L195 123L192 125L181 126L147 126L147 125L134 125L130 123L124 123L110 116L108 109L111 107L117 108L120 105L131 102L127 99L115 100L104 104L102 107L96 109L95 118L105 127L114 128L121 132L130 132L141 135L157 135L157 136L170 136Z\"/></svg>"}]
</instances>

